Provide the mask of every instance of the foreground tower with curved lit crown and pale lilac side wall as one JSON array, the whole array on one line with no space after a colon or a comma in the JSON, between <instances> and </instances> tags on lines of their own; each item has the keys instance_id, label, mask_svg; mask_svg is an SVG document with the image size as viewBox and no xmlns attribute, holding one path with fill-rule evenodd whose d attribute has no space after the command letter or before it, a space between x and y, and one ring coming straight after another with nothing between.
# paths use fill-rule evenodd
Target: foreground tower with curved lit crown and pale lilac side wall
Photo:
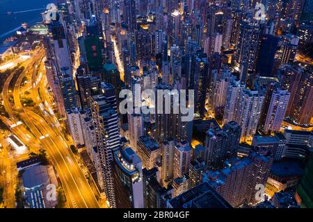
<instances>
[{"instance_id":1,"label":"foreground tower with curved lit crown and pale lilac side wall","mask_svg":"<svg viewBox=\"0 0 313 222\"><path fill-rule=\"evenodd\" d=\"M142 162L131 148L114 151L112 174L116 207L143 208Z\"/></svg>"}]
</instances>

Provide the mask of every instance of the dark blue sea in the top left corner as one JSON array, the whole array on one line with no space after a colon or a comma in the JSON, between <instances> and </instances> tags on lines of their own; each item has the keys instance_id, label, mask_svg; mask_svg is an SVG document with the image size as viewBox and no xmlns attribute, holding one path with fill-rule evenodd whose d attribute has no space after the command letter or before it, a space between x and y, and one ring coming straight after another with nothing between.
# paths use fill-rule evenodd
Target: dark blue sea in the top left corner
<instances>
[{"instance_id":1,"label":"dark blue sea in the top left corner","mask_svg":"<svg viewBox=\"0 0 313 222\"><path fill-rule=\"evenodd\" d=\"M13 35L22 23L29 26L42 21L41 12L54 0L0 0L0 44ZM13 12L6 15L6 12Z\"/></svg>"}]
</instances>

